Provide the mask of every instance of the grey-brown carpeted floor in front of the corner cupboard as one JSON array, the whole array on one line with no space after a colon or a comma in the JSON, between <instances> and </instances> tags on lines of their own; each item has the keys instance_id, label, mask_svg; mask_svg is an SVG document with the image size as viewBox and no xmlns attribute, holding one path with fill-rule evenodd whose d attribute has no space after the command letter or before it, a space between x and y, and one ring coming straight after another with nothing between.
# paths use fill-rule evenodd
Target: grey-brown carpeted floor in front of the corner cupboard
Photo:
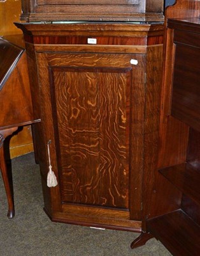
<instances>
[{"instance_id":1,"label":"grey-brown carpeted floor in front of the corner cupboard","mask_svg":"<svg viewBox=\"0 0 200 256\"><path fill-rule=\"evenodd\" d=\"M137 233L53 223L43 211L39 166L34 155L12 160L15 218L0 175L0 256L170 256L156 239L131 250Z\"/></svg>"}]
</instances>

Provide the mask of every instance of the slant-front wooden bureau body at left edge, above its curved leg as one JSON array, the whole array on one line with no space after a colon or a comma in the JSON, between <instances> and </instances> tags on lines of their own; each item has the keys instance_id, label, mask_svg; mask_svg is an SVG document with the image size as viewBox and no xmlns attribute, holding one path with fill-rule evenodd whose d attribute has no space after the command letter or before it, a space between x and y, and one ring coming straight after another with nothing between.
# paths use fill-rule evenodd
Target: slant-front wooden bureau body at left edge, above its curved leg
<instances>
[{"instance_id":1,"label":"slant-front wooden bureau body at left edge, above its curved leg","mask_svg":"<svg viewBox=\"0 0 200 256\"><path fill-rule=\"evenodd\" d=\"M31 92L24 50L1 42L0 128L6 129L31 123L33 120ZM12 100L6 100L12 99ZM23 112L23 114L22 114Z\"/></svg>"}]
</instances>

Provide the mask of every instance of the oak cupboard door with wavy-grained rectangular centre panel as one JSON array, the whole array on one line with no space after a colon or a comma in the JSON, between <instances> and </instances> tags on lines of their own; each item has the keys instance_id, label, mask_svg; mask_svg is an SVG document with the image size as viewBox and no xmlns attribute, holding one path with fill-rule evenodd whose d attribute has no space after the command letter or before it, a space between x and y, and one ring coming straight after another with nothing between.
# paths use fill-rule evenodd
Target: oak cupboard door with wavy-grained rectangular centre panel
<instances>
[{"instance_id":1,"label":"oak cupboard door with wavy-grained rectangular centre panel","mask_svg":"<svg viewBox=\"0 0 200 256\"><path fill-rule=\"evenodd\" d=\"M134 90L142 99L144 88L138 87L143 79L136 79L130 63L134 56L37 55L44 136L46 143L52 140L52 166L59 179L60 205L52 202L53 208L67 212L68 205L93 206L126 211L126 218L139 219L143 126L140 134L137 129L143 124L144 106ZM143 56L136 58L143 67ZM139 76L144 74L141 67ZM132 109L134 99L137 109ZM134 159L139 168L134 168Z\"/></svg>"}]
</instances>

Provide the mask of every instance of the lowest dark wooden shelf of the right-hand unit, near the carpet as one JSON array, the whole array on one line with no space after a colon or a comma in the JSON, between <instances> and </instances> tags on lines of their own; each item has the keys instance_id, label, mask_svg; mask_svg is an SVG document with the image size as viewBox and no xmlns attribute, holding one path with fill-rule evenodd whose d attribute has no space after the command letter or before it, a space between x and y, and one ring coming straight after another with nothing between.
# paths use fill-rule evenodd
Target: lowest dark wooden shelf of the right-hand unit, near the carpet
<instances>
[{"instance_id":1,"label":"lowest dark wooden shelf of the right-hand unit, near the carpet","mask_svg":"<svg viewBox=\"0 0 200 256\"><path fill-rule=\"evenodd\" d=\"M199 256L200 227L182 210L148 220L146 225L174 256Z\"/></svg>"}]
</instances>

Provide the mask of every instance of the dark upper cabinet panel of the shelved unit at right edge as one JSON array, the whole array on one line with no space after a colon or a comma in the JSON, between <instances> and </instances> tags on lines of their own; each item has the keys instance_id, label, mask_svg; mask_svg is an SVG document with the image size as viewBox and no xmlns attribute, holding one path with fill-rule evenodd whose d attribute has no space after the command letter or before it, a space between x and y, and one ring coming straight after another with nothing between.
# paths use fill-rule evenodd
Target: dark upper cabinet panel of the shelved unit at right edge
<instances>
[{"instance_id":1,"label":"dark upper cabinet panel of the shelved unit at right edge","mask_svg":"<svg viewBox=\"0 0 200 256\"><path fill-rule=\"evenodd\" d=\"M200 130L199 24L199 19L185 20L185 26L184 22L168 20L168 28L172 26L175 28L174 42L176 45L171 115L197 131ZM189 31L187 31L187 26L190 26ZM185 33L180 32L180 29L185 29ZM186 70L187 76L184 75Z\"/></svg>"}]
</instances>

